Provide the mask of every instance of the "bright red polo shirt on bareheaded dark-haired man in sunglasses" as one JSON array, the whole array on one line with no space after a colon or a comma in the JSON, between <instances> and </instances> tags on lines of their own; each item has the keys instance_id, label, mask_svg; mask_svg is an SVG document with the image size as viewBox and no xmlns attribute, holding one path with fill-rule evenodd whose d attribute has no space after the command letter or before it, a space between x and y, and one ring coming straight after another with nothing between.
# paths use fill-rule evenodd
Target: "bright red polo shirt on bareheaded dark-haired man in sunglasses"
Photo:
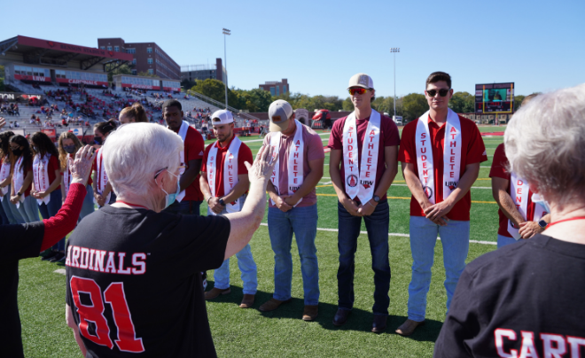
<instances>
[{"instance_id":1,"label":"bright red polo shirt on bareheaded dark-haired man in sunglasses","mask_svg":"<svg viewBox=\"0 0 585 358\"><path fill-rule=\"evenodd\" d=\"M473 163L480 163L487 160L486 146L483 144L480 130L477 125L462 116L459 116L461 122L461 171L460 176L465 173L465 166ZM417 122L411 121L402 130L402 145L398 152L398 160L404 163L413 163L415 167L415 175L418 176L417 166L417 145L415 144L415 137L417 135ZM439 127L437 123L429 118L429 134L431 136L431 147L433 148L433 163L434 163L434 192L436 193L436 202L443 201L443 152L445 142L445 123ZM450 220L469 221L469 212L472 208L472 194L467 191L461 200L457 201L453 209L447 214ZM418 201L414 196L410 199L410 215L411 216L426 216L423 209L418 205Z\"/></svg>"}]
</instances>

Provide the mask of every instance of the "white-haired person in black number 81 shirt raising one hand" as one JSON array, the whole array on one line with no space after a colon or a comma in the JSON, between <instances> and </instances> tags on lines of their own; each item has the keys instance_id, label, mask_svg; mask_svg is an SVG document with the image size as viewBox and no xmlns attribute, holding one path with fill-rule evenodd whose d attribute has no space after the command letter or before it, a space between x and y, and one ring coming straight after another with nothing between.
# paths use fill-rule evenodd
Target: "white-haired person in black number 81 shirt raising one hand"
<instances>
[{"instance_id":1,"label":"white-haired person in black number 81 shirt raising one hand","mask_svg":"<svg viewBox=\"0 0 585 358\"><path fill-rule=\"evenodd\" d=\"M122 126L102 151L117 201L84 218L66 246L66 320L82 353L215 356L200 272L222 266L259 227L271 149L246 163L246 204L224 216L163 212L180 191L175 132Z\"/></svg>"}]
</instances>

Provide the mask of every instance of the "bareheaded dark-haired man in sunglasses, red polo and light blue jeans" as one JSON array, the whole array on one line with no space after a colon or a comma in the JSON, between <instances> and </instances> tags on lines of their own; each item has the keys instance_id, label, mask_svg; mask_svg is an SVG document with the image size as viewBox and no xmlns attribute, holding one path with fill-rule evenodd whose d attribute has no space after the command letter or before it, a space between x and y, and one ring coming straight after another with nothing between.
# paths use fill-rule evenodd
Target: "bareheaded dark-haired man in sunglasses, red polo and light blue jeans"
<instances>
[{"instance_id":1,"label":"bareheaded dark-haired man in sunglasses, red polo and light blue jeans","mask_svg":"<svg viewBox=\"0 0 585 358\"><path fill-rule=\"evenodd\" d=\"M443 245L447 309L469 251L470 188L487 155L475 123L448 108L452 96L451 77L444 72L431 74L425 90L429 111L402 131L398 160L412 192L409 226L413 259L409 318L396 330L403 336L425 323L437 235Z\"/></svg>"}]
</instances>

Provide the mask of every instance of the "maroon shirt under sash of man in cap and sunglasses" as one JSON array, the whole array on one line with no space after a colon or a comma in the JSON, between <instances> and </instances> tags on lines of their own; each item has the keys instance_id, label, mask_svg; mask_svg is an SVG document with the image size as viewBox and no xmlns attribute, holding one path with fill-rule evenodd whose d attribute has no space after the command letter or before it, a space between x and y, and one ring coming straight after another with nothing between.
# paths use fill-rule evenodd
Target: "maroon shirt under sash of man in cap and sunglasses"
<instances>
[{"instance_id":1,"label":"maroon shirt under sash of man in cap and sunglasses","mask_svg":"<svg viewBox=\"0 0 585 358\"><path fill-rule=\"evenodd\" d=\"M339 150L342 152L341 157L341 170L339 174L341 175L341 182L343 185L343 191L346 190L346 181L345 178L345 167L343 164L343 127L346 124L347 117L339 118L339 120L333 123L333 127L331 128L331 135L329 136L329 143L327 144L328 148L331 150ZM370 117L365 118L363 120L358 120L355 118L355 127L357 127L357 167L359 168L362 165L362 148L363 148L363 138L365 136L366 129L368 128L368 122L370 121ZM378 165L376 169L376 182L374 183L374 191L375 188L378 188L378 183L384 175L384 171L386 170L386 161L384 155L384 147L391 147L394 145L400 144L400 135L398 133L398 127L396 127L396 123L392 121L390 118L382 115L380 113L380 136L379 136L379 150L378 150ZM386 194L380 199L385 199ZM356 198L357 199L357 198Z\"/></svg>"}]
</instances>

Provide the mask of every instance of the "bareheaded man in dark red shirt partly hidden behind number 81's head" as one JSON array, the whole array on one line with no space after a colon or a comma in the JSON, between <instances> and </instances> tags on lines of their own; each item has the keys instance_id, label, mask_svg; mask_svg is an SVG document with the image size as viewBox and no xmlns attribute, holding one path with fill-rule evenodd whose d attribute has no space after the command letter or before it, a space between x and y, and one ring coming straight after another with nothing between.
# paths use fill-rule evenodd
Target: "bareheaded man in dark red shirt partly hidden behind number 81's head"
<instances>
[{"instance_id":1,"label":"bareheaded man in dark red shirt partly hidden behind number 81's head","mask_svg":"<svg viewBox=\"0 0 585 358\"><path fill-rule=\"evenodd\" d=\"M199 132L189 123L183 121L181 102L169 99L162 105L162 116L168 128L183 139L184 151L181 161L185 165L181 174L181 193L167 211L175 214L199 215L199 206L203 202L203 194L199 189L199 169L205 150L205 142Z\"/></svg>"}]
</instances>

